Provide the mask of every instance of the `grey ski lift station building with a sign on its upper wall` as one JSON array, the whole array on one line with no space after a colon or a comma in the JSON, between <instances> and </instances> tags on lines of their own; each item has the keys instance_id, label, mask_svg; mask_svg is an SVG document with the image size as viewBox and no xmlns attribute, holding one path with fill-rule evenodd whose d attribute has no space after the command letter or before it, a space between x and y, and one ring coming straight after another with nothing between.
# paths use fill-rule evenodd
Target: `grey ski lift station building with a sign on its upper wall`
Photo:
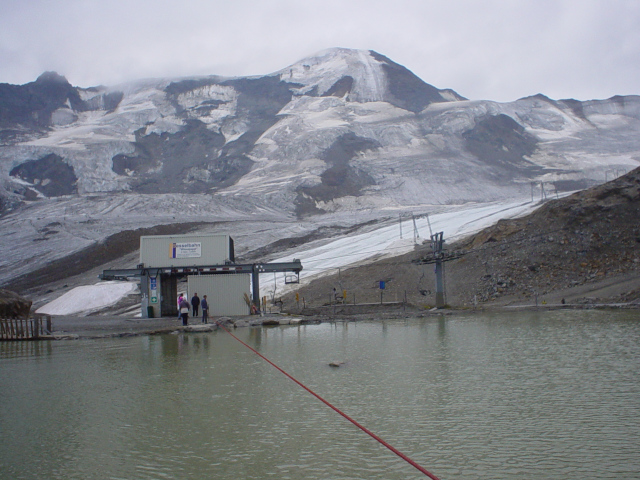
<instances>
[{"instance_id":1,"label":"grey ski lift station building with a sign on its upper wall","mask_svg":"<svg viewBox=\"0 0 640 480\"><path fill-rule=\"evenodd\" d=\"M103 280L140 277L142 317L178 314L178 280L187 279L187 300L207 296L209 315L248 315L260 310L260 274L285 272L298 283L300 260L285 263L235 262L229 235L155 235L140 237L135 269L104 270ZM251 299L249 304L247 299Z\"/></svg>"}]
</instances>

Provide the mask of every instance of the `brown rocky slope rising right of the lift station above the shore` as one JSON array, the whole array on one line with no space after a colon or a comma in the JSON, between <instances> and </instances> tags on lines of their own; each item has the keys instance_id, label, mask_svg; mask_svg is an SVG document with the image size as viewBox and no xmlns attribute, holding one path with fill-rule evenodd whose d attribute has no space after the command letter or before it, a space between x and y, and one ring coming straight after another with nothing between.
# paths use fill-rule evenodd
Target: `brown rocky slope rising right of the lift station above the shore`
<instances>
[{"instance_id":1,"label":"brown rocky slope rising right of the lift station above the shore","mask_svg":"<svg viewBox=\"0 0 640 480\"><path fill-rule=\"evenodd\" d=\"M447 302L474 305L640 303L640 168L614 181L550 200L534 213L504 220L448 246L460 258L446 263ZM446 238L446 232L445 232ZM430 306L430 246L342 271L298 291L308 306L327 304L333 288L347 300ZM287 308L296 311L293 294Z\"/></svg>"}]
</instances>

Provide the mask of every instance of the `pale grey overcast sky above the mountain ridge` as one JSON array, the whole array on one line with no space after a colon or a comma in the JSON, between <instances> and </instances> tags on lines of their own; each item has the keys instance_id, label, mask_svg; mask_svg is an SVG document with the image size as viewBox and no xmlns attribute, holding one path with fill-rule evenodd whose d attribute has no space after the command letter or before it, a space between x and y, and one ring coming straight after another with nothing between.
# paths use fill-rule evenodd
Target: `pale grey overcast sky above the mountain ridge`
<instances>
[{"instance_id":1,"label":"pale grey overcast sky above the mountain ridge","mask_svg":"<svg viewBox=\"0 0 640 480\"><path fill-rule=\"evenodd\" d=\"M640 94L640 0L0 0L0 83L261 75L331 47L471 99Z\"/></svg>"}]
</instances>

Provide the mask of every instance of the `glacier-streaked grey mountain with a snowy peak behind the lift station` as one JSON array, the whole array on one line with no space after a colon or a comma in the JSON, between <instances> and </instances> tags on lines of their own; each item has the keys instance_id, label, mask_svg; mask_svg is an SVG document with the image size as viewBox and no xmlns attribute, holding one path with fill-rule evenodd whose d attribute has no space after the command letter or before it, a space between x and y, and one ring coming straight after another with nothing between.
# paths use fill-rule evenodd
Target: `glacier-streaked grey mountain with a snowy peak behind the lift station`
<instances>
[{"instance_id":1,"label":"glacier-streaked grey mountain with a snowy peak behind the lift station","mask_svg":"<svg viewBox=\"0 0 640 480\"><path fill-rule=\"evenodd\" d=\"M112 87L49 72L0 85L0 234L38 240L46 262L186 217L259 215L304 231L303 219L527 198L533 182L554 193L631 170L639 132L639 96L471 101L373 51L330 49L265 76ZM47 227L56 222L66 226ZM0 265L0 282L32 268L15 248L24 253Z\"/></svg>"}]
</instances>

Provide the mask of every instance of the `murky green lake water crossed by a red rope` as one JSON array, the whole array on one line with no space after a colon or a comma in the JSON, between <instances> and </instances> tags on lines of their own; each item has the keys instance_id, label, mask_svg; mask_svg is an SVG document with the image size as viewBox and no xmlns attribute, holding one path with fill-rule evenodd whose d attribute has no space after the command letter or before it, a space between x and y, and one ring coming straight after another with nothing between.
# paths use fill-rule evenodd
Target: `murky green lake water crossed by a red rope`
<instances>
[{"instance_id":1,"label":"murky green lake water crossed by a red rope","mask_svg":"<svg viewBox=\"0 0 640 480\"><path fill-rule=\"evenodd\" d=\"M442 480L640 478L637 311L234 334ZM0 435L2 480L426 478L224 331L0 343Z\"/></svg>"}]
</instances>

